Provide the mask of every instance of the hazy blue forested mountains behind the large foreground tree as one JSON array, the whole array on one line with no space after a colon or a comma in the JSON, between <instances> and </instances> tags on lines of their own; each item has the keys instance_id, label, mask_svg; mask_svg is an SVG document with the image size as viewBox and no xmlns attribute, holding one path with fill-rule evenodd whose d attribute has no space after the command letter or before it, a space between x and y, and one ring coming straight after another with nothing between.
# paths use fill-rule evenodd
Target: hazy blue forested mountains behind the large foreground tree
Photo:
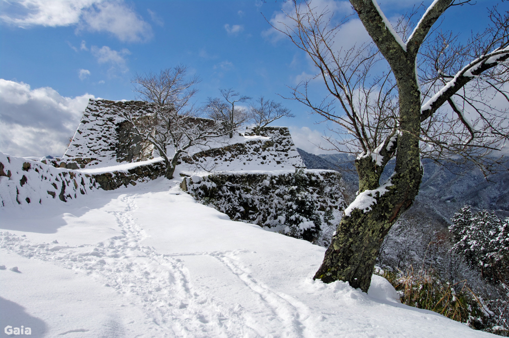
<instances>
[{"instance_id":1,"label":"hazy blue forested mountains behind the large foreground tree","mask_svg":"<svg viewBox=\"0 0 509 338\"><path fill-rule=\"evenodd\" d=\"M330 168L340 172L349 183L355 196L358 176L354 171L355 158L347 154L313 155L297 149L307 168ZM304 156L303 156L304 155ZM316 157L325 160L320 162ZM323 165L328 165L327 167ZM431 160L422 160L424 176L419 194L406 218L419 219L436 226L447 226L450 217L464 205L475 209L494 211L498 217L509 217L509 170L501 166L500 172L487 179L477 168L460 171L458 167L444 167ZM381 181L386 180L394 170L394 163L387 164Z\"/></svg>"}]
</instances>

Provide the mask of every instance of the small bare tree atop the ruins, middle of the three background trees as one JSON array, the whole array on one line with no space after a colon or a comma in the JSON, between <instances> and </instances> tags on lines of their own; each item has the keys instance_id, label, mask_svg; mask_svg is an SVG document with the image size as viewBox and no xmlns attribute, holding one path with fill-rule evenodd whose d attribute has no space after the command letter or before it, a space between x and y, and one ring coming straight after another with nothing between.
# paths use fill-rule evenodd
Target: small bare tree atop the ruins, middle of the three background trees
<instances>
[{"instance_id":1,"label":"small bare tree atop the ruins, middle of the three background trees","mask_svg":"<svg viewBox=\"0 0 509 338\"><path fill-rule=\"evenodd\" d=\"M235 105L237 102L245 102L251 98L240 96L232 88L220 89L219 92L222 99L209 97L205 109L211 119L222 122L223 127L229 130L230 138L232 138L233 132L247 120L245 109Z\"/></svg>"}]
</instances>

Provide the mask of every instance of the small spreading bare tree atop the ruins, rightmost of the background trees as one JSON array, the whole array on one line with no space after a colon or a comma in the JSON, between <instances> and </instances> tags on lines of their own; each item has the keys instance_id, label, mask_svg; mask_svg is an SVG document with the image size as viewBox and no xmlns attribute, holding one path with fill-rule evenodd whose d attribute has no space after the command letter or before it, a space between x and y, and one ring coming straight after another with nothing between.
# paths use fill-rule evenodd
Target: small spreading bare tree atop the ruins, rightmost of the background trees
<instances>
[{"instance_id":1,"label":"small spreading bare tree atop the ruins, rightmost of the background trees","mask_svg":"<svg viewBox=\"0 0 509 338\"><path fill-rule=\"evenodd\" d=\"M282 117L295 117L290 109L283 106L281 103L273 100L266 100L263 96L260 96L256 102L251 102L248 116L249 120L255 124L254 132L256 135L260 135L260 132L262 132L268 124Z\"/></svg>"}]
</instances>

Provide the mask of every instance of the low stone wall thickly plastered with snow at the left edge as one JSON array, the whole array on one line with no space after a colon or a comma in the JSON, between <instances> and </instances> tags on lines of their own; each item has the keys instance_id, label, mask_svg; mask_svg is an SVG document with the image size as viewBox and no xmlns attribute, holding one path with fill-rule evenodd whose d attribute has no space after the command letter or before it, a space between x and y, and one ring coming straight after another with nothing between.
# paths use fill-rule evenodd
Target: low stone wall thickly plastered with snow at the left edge
<instances>
[{"instance_id":1,"label":"low stone wall thickly plastered with snow at the left edge","mask_svg":"<svg viewBox=\"0 0 509 338\"><path fill-rule=\"evenodd\" d=\"M67 201L97 190L93 176L0 153L0 199L3 207Z\"/></svg>"}]
</instances>

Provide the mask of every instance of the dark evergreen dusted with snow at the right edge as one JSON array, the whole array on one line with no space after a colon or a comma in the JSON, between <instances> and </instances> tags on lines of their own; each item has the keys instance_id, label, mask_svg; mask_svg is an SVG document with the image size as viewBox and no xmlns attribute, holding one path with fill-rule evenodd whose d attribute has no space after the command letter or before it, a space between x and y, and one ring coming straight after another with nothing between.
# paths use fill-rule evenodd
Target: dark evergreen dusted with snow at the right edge
<instances>
[{"instance_id":1,"label":"dark evergreen dusted with snow at the right edge","mask_svg":"<svg viewBox=\"0 0 509 338\"><path fill-rule=\"evenodd\" d=\"M461 252L472 268L494 283L509 280L509 218L502 222L493 212L472 213L469 206L451 218L453 249Z\"/></svg>"}]
</instances>

